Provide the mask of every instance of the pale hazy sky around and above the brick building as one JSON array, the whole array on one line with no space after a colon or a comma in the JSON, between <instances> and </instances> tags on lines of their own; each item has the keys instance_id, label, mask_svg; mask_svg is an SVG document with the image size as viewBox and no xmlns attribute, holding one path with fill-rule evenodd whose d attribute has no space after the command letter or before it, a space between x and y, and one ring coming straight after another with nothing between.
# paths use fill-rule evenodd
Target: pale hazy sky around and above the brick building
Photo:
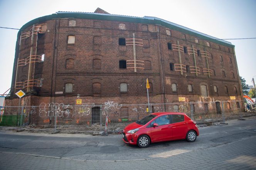
<instances>
[{"instance_id":1,"label":"pale hazy sky around and above the brick building","mask_svg":"<svg viewBox=\"0 0 256 170\"><path fill-rule=\"evenodd\" d=\"M0 27L21 28L38 17L58 11L158 17L187 28L226 38L235 45L239 75L248 85L256 78L256 0L0 0ZM18 30L0 28L0 94L11 86Z\"/></svg>"}]
</instances>

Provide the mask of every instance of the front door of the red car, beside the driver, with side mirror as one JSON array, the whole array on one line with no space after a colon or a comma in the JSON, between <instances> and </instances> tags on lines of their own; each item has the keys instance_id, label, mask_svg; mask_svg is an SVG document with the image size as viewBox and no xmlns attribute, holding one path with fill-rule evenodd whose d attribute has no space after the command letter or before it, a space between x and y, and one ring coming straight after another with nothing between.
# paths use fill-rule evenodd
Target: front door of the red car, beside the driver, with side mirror
<instances>
[{"instance_id":1,"label":"front door of the red car, beside the driver, with side mirror","mask_svg":"<svg viewBox=\"0 0 256 170\"><path fill-rule=\"evenodd\" d=\"M158 126L154 127L153 123L157 123ZM163 115L151 122L150 137L152 142L170 140L172 137L172 128L170 125L170 115Z\"/></svg>"}]
</instances>

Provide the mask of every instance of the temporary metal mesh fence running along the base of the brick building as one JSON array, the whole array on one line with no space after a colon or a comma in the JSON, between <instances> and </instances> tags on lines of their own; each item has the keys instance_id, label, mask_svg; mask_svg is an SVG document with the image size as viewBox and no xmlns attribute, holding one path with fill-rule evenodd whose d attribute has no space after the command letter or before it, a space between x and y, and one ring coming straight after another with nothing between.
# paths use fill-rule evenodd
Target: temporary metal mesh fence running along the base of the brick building
<instances>
[{"instance_id":1,"label":"temporary metal mesh fence running along the base of the brick building","mask_svg":"<svg viewBox=\"0 0 256 170\"><path fill-rule=\"evenodd\" d=\"M243 101L189 102L142 105L104 105L42 103L40 106L5 106L1 110L0 126L28 127L40 130L76 132L120 131L131 122L154 112L183 112L197 124L211 124L243 118L255 113L243 111ZM106 122L108 117L108 122Z\"/></svg>"}]
</instances>

